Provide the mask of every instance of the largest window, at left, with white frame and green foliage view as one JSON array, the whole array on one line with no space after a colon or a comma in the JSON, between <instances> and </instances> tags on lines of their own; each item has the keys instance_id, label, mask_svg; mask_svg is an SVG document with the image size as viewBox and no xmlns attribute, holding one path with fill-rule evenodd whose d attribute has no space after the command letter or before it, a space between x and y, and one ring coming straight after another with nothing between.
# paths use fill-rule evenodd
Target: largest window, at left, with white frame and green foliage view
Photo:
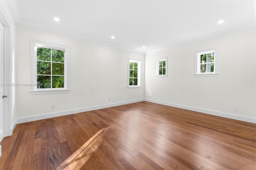
<instances>
[{"instance_id":1,"label":"largest window, at left, with white frame and green foliage view","mask_svg":"<svg viewBox=\"0 0 256 170\"><path fill-rule=\"evenodd\" d=\"M31 41L32 93L69 90L69 47Z\"/></svg>"}]
</instances>

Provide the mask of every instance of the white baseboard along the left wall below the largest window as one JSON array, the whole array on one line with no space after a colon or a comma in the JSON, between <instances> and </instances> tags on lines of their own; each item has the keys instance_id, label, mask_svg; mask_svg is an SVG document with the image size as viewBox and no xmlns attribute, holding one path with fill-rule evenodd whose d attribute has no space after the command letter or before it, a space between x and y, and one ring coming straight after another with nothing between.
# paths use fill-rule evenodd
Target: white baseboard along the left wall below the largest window
<instances>
[{"instance_id":1,"label":"white baseboard along the left wall below the largest window","mask_svg":"<svg viewBox=\"0 0 256 170\"><path fill-rule=\"evenodd\" d=\"M127 105L127 104L131 104L131 103L138 103L138 102L141 102L141 101L145 101L145 99L137 99L137 100L131 100L131 101L111 103L111 104L106 104L106 105L84 107L84 108L81 108L81 109L72 109L72 110L68 110L68 111L60 111L60 112L47 113L47 114L35 115L35 116L29 116L29 117L21 117L21 118L17 118L16 124L32 122L32 121L39 121L39 120L42 120L42 119L48 119L48 118L53 118L53 117L71 115L71 114L75 114L75 113L94 111L94 110L104 109L104 108L108 108L108 107Z\"/></svg>"}]
</instances>

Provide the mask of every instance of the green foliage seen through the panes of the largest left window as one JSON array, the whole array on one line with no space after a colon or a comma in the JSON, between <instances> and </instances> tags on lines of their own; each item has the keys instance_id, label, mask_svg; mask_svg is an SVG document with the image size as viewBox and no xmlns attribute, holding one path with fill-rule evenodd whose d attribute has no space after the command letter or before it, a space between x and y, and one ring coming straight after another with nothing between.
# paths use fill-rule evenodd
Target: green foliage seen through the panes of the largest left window
<instances>
[{"instance_id":1,"label":"green foliage seen through the panes of the largest left window","mask_svg":"<svg viewBox=\"0 0 256 170\"><path fill-rule=\"evenodd\" d=\"M37 47L37 88L64 88L64 51Z\"/></svg>"}]
</instances>

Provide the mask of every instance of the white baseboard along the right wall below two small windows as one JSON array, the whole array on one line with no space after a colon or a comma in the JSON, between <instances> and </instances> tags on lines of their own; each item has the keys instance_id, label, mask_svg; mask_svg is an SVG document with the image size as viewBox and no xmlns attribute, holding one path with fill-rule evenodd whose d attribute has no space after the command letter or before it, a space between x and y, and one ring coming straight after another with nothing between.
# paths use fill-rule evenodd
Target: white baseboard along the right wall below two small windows
<instances>
[{"instance_id":1,"label":"white baseboard along the right wall below two small windows","mask_svg":"<svg viewBox=\"0 0 256 170\"><path fill-rule=\"evenodd\" d=\"M214 115L214 116L220 116L220 117L225 117L225 118L229 118L229 119L235 119L235 120L238 120L238 121L256 123L256 118L254 118L254 117L234 115L234 114L230 114L230 113L223 113L223 112L218 112L218 111L201 109L201 108L197 108L197 107L178 105L178 104L174 104L174 103L156 101L156 100L152 100L152 99L145 99L145 101L148 101L148 102L151 102L151 103L157 103L157 104L160 104L160 105L177 107L177 108L180 108L180 109L186 109L186 110L189 110L189 111L196 111L196 112L200 112L200 113L206 113L208 115Z\"/></svg>"}]
</instances>

